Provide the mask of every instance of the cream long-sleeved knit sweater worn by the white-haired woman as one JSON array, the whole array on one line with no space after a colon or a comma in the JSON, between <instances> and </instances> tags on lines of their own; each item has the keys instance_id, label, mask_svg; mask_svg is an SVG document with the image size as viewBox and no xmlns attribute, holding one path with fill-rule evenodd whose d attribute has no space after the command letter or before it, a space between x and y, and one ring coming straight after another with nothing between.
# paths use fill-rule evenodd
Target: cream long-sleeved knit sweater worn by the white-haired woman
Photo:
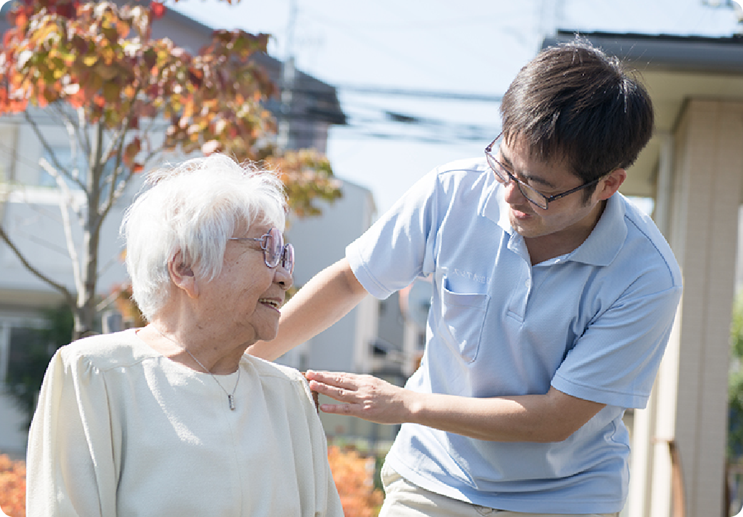
<instances>
[{"instance_id":1,"label":"cream long-sleeved knit sweater worn by the white-haired woman","mask_svg":"<svg viewBox=\"0 0 743 517\"><path fill-rule=\"evenodd\" d=\"M325 433L294 369L244 355L214 378L134 330L59 349L31 425L27 515L342 516ZM232 392L237 372L217 375Z\"/></svg>"}]
</instances>

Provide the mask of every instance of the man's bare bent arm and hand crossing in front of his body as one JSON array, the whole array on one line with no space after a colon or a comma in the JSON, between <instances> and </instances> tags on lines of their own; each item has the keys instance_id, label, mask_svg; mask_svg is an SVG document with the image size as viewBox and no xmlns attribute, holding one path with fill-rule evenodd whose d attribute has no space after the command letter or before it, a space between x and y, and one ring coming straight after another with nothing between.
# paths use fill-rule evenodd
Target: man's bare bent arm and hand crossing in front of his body
<instances>
[{"instance_id":1,"label":"man's bare bent arm and hand crossing in front of his body","mask_svg":"<svg viewBox=\"0 0 743 517\"><path fill-rule=\"evenodd\" d=\"M489 441L562 441L605 406L554 388L545 395L470 398L412 392L369 375L308 372L307 378L311 389L343 403L321 404L324 412Z\"/></svg>"}]
</instances>

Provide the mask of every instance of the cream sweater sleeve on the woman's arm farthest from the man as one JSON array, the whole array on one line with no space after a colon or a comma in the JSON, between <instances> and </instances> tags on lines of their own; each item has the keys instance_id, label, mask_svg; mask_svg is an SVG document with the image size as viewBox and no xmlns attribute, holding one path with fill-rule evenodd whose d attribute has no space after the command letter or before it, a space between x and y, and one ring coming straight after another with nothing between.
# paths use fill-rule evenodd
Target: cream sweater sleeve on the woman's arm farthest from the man
<instances>
[{"instance_id":1,"label":"cream sweater sleeve on the woman's arm farthest from the man","mask_svg":"<svg viewBox=\"0 0 743 517\"><path fill-rule=\"evenodd\" d=\"M45 374L29 431L27 515L116 515L117 473L106 382L63 347Z\"/></svg>"}]
</instances>

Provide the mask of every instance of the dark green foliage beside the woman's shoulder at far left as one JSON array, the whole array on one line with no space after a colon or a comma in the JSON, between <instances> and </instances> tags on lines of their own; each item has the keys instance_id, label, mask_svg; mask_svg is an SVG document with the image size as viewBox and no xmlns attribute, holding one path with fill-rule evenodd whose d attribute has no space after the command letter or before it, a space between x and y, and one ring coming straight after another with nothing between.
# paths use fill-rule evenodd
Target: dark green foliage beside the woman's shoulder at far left
<instances>
[{"instance_id":1,"label":"dark green foliage beside the woman's shoulder at far left","mask_svg":"<svg viewBox=\"0 0 743 517\"><path fill-rule=\"evenodd\" d=\"M68 306L46 309L43 312L46 326L42 329L22 329L17 343L13 343L5 391L11 395L26 416L25 425L30 424L36 409L36 395L41 389L49 360L59 349L70 342L74 320Z\"/></svg>"}]
</instances>

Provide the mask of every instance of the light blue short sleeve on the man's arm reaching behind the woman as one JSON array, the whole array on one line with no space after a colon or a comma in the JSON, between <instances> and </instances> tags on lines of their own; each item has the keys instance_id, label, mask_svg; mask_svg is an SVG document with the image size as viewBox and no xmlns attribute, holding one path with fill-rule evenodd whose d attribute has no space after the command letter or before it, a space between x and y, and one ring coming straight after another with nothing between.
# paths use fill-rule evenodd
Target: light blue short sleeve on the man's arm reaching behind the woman
<instances>
[{"instance_id":1,"label":"light blue short sleeve on the man's arm reaching behind the woman","mask_svg":"<svg viewBox=\"0 0 743 517\"><path fill-rule=\"evenodd\" d=\"M433 271L439 195L435 169L346 248L351 270L372 296L389 297Z\"/></svg>"}]
</instances>

